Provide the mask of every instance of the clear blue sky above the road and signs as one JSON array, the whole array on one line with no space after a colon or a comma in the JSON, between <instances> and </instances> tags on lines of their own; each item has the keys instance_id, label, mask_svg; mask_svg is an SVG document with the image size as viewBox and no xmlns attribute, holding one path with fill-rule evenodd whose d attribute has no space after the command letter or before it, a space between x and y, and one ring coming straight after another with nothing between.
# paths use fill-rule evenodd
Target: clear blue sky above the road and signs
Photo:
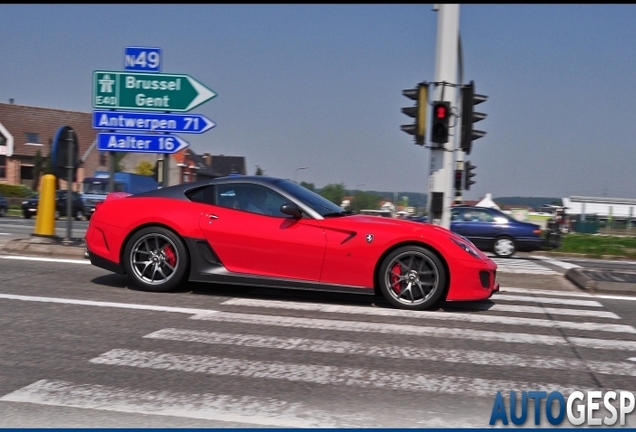
<instances>
[{"instance_id":1,"label":"clear blue sky above the road and signs","mask_svg":"<svg viewBox=\"0 0 636 432\"><path fill-rule=\"evenodd\" d=\"M181 135L322 187L427 192L402 90L434 81L438 14L397 5L0 5L0 101L91 112L94 70L160 47L218 93ZM636 198L636 5L461 5L464 80L488 96L466 157L493 196ZM309 167L296 171L299 167Z\"/></svg>"}]
</instances>

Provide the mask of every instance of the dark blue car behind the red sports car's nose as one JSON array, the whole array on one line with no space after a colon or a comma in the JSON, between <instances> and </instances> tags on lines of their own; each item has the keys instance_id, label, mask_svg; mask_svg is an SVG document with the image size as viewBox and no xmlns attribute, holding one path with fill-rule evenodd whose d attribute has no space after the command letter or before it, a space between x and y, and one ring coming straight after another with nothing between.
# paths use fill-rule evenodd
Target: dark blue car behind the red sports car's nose
<instances>
[{"instance_id":1,"label":"dark blue car behind the red sports car's nose","mask_svg":"<svg viewBox=\"0 0 636 432\"><path fill-rule=\"evenodd\" d=\"M516 251L540 250L544 245L539 225L518 221L488 207L452 207L451 231L498 257L511 257Z\"/></svg>"}]
</instances>

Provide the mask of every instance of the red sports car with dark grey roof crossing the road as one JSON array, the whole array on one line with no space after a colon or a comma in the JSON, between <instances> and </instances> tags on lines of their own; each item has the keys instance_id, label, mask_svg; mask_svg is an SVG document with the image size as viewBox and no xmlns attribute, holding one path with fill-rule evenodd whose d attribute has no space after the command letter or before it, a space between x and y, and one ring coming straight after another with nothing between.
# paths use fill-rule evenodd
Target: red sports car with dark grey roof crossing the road
<instances>
[{"instance_id":1,"label":"red sports car with dark grey roof crossing the road","mask_svg":"<svg viewBox=\"0 0 636 432\"><path fill-rule=\"evenodd\" d=\"M420 310L497 292L497 265L430 224L354 215L289 180L223 177L111 194L86 232L93 265L146 291L186 281L382 294Z\"/></svg>"}]
</instances>

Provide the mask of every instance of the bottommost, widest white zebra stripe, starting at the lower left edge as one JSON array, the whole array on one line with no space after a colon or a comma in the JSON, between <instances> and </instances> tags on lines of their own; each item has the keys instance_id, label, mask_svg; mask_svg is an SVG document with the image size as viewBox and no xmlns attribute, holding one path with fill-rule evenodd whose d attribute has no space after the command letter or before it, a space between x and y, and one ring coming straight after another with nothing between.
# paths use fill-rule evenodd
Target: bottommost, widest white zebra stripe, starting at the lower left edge
<instances>
[{"instance_id":1,"label":"bottommost, widest white zebra stripe, starting at the lower left edge","mask_svg":"<svg viewBox=\"0 0 636 432\"><path fill-rule=\"evenodd\" d=\"M300 403L252 396L185 394L40 380L0 401L188 417L288 428L343 427L337 417ZM348 427L355 423L349 420Z\"/></svg>"}]
</instances>

